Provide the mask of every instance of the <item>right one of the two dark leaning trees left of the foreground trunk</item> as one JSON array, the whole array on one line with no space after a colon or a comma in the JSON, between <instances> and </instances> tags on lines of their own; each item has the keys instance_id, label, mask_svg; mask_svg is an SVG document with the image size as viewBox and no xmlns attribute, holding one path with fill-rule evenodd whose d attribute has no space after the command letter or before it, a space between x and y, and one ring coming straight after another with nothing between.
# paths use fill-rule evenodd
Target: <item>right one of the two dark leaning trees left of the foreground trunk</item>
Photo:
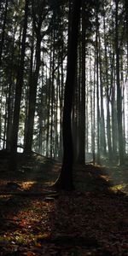
<instances>
[{"instance_id":1,"label":"right one of the two dark leaning trees left of the foreground trunk","mask_svg":"<svg viewBox=\"0 0 128 256\"><path fill-rule=\"evenodd\" d=\"M29 88L29 107L28 107L28 118L26 125L26 143L25 143L25 154L30 154L32 152L32 137L33 137L33 126L34 126L34 116L36 109L36 99L37 99L37 87L38 87L38 75L41 65L41 42L45 35L42 32L42 24L47 11L44 10L45 1L40 3L32 1L32 19L34 31L36 33L36 56L35 62L36 67L32 72L32 84Z\"/></svg>"}]
</instances>

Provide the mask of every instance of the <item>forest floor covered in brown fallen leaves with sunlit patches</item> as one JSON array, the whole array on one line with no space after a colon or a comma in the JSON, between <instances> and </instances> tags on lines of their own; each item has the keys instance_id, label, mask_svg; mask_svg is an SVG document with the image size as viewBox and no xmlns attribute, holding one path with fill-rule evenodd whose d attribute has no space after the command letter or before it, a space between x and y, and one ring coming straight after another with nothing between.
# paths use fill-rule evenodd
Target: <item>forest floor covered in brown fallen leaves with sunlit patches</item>
<instances>
[{"instance_id":1,"label":"forest floor covered in brown fallen leaves with sunlit patches","mask_svg":"<svg viewBox=\"0 0 128 256\"><path fill-rule=\"evenodd\" d=\"M128 255L128 166L74 166L73 192L51 185L61 163L0 160L0 256Z\"/></svg>"}]
</instances>

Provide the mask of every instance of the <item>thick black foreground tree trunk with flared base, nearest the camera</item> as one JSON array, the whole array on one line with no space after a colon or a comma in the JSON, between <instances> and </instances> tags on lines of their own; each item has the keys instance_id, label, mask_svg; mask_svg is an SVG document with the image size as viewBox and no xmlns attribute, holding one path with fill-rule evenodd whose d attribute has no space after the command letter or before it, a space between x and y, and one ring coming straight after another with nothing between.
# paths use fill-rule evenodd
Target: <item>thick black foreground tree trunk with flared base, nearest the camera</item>
<instances>
[{"instance_id":1,"label":"thick black foreground tree trunk with flared base, nearest the camera","mask_svg":"<svg viewBox=\"0 0 128 256\"><path fill-rule=\"evenodd\" d=\"M78 34L79 34L79 18L80 18L81 1L73 1L73 20L71 25L71 35L68 42L67 55L67 81L64 96L64 110L62 122L63 135L63 162L61 173L58 177L55 187L57 189L73 189L73 140L71 131L71 113L73 105L73 91L75 68L77 62Z\"/></svg>"}]
</instances>

